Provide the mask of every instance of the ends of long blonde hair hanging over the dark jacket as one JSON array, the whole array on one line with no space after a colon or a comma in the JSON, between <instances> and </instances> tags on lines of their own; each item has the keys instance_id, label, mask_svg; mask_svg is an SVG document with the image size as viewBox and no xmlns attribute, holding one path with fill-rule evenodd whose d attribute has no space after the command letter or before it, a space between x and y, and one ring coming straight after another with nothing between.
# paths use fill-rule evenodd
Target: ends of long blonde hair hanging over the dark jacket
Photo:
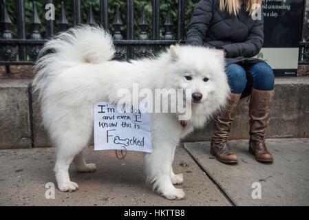
<instances>
[{"instance_id":1,"label":"ends of long blonde hair hanging over the dark jacket","mask_svg":"<svg viewBox=\"0 0 309 220\"><path fill-rule=\"evenodd\" d=\"M250 15L255 11L255 4L262 5L263 0L244 0L246 12ZM220 0L220 10L226 10L228 14L237 15L240 10L240 0Z\"/></svg>"}]
</instances>

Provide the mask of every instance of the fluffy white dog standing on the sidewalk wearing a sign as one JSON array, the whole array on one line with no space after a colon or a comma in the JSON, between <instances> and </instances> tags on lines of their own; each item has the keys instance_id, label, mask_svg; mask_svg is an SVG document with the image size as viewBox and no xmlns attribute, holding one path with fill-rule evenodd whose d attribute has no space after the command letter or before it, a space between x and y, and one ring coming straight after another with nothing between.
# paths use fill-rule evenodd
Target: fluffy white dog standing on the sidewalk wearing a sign
<instances>
[{"instance_id":1,"label":"fluffy white dog standing on the sidewalk wearing a sign","mask_svg":"<svg viewBox=\"0 0 309 220\"><path fill-rule=\"evenodd\" d=\"M171 46L156 58L111 61L115 54L111 36L101 28L82 26L59 34L43 47L36 63L34 87L41 98L43 124L56 145L54 171L61 191L74 191L68 169L92 172L95 164L83 159L83 149L93 132L93 104L117 103L119 89L191 89L192 116L182 126L177 113L153 113L153 152L146 153L147 181L167 199L182 199L182 174L172 169L180 139L201 128L226 103L230 89L219 50L189 45Z\"/></svg>"}]
</instances>

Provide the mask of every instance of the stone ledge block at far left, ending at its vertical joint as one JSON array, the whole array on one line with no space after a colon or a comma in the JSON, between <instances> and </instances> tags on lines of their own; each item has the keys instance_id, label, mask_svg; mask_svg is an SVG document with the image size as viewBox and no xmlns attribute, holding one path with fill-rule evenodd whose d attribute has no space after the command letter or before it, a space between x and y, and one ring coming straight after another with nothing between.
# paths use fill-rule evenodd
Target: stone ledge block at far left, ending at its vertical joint
<instances>
[{"instance_id":1,"label":"stone ledge block at far left, ending at its vertical joint","mask_svg":"<svg viewBox=\"0 0 309 220\"><path fill-rule=\"evenodd\" d=\"M29 80L0 80L0 148L31 148Z\"/></svg>"}]
</instances>

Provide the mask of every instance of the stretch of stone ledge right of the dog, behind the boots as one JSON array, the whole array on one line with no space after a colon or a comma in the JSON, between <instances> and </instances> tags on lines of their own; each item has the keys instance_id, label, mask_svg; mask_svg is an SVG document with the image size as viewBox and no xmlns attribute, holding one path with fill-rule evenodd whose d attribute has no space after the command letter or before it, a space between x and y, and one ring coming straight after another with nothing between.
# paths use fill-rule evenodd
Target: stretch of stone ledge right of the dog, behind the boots
<instances>
[{"instance_id":1,"label":"stretch of stone ledge right of the dog, behind the boots","mask_svg":"<svg viewBox=\"0 0 309 220\"><path fill-rule=\"evenodd\" d=\"M231 140L248 139L248 102L239 102L231 128ZM276 78L275 98L270 112L267 137L309 137L309 78ZM213 122L196 131L186 142L209 141L213 135Z\"/></svg>"}]
</instances>

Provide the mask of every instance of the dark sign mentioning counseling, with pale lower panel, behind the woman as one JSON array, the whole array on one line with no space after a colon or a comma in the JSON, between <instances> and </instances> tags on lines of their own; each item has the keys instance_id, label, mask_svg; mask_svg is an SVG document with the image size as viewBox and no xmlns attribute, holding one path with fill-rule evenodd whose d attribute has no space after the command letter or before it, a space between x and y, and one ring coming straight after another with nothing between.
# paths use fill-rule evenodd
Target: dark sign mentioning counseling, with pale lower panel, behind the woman
<instances>
[{"instance_id":1,"label":"dark sign mentioning counseling, with pale lower panel, behind the woman","mask_svg":"<svg viewBox=\"0 0 309 220\"><path fill-rule=\"evenodd\" d=\"M276 76L296 76L303 22L303 1L264 0L264 47L257 55Z\"/></svg>"}]
</instances>

